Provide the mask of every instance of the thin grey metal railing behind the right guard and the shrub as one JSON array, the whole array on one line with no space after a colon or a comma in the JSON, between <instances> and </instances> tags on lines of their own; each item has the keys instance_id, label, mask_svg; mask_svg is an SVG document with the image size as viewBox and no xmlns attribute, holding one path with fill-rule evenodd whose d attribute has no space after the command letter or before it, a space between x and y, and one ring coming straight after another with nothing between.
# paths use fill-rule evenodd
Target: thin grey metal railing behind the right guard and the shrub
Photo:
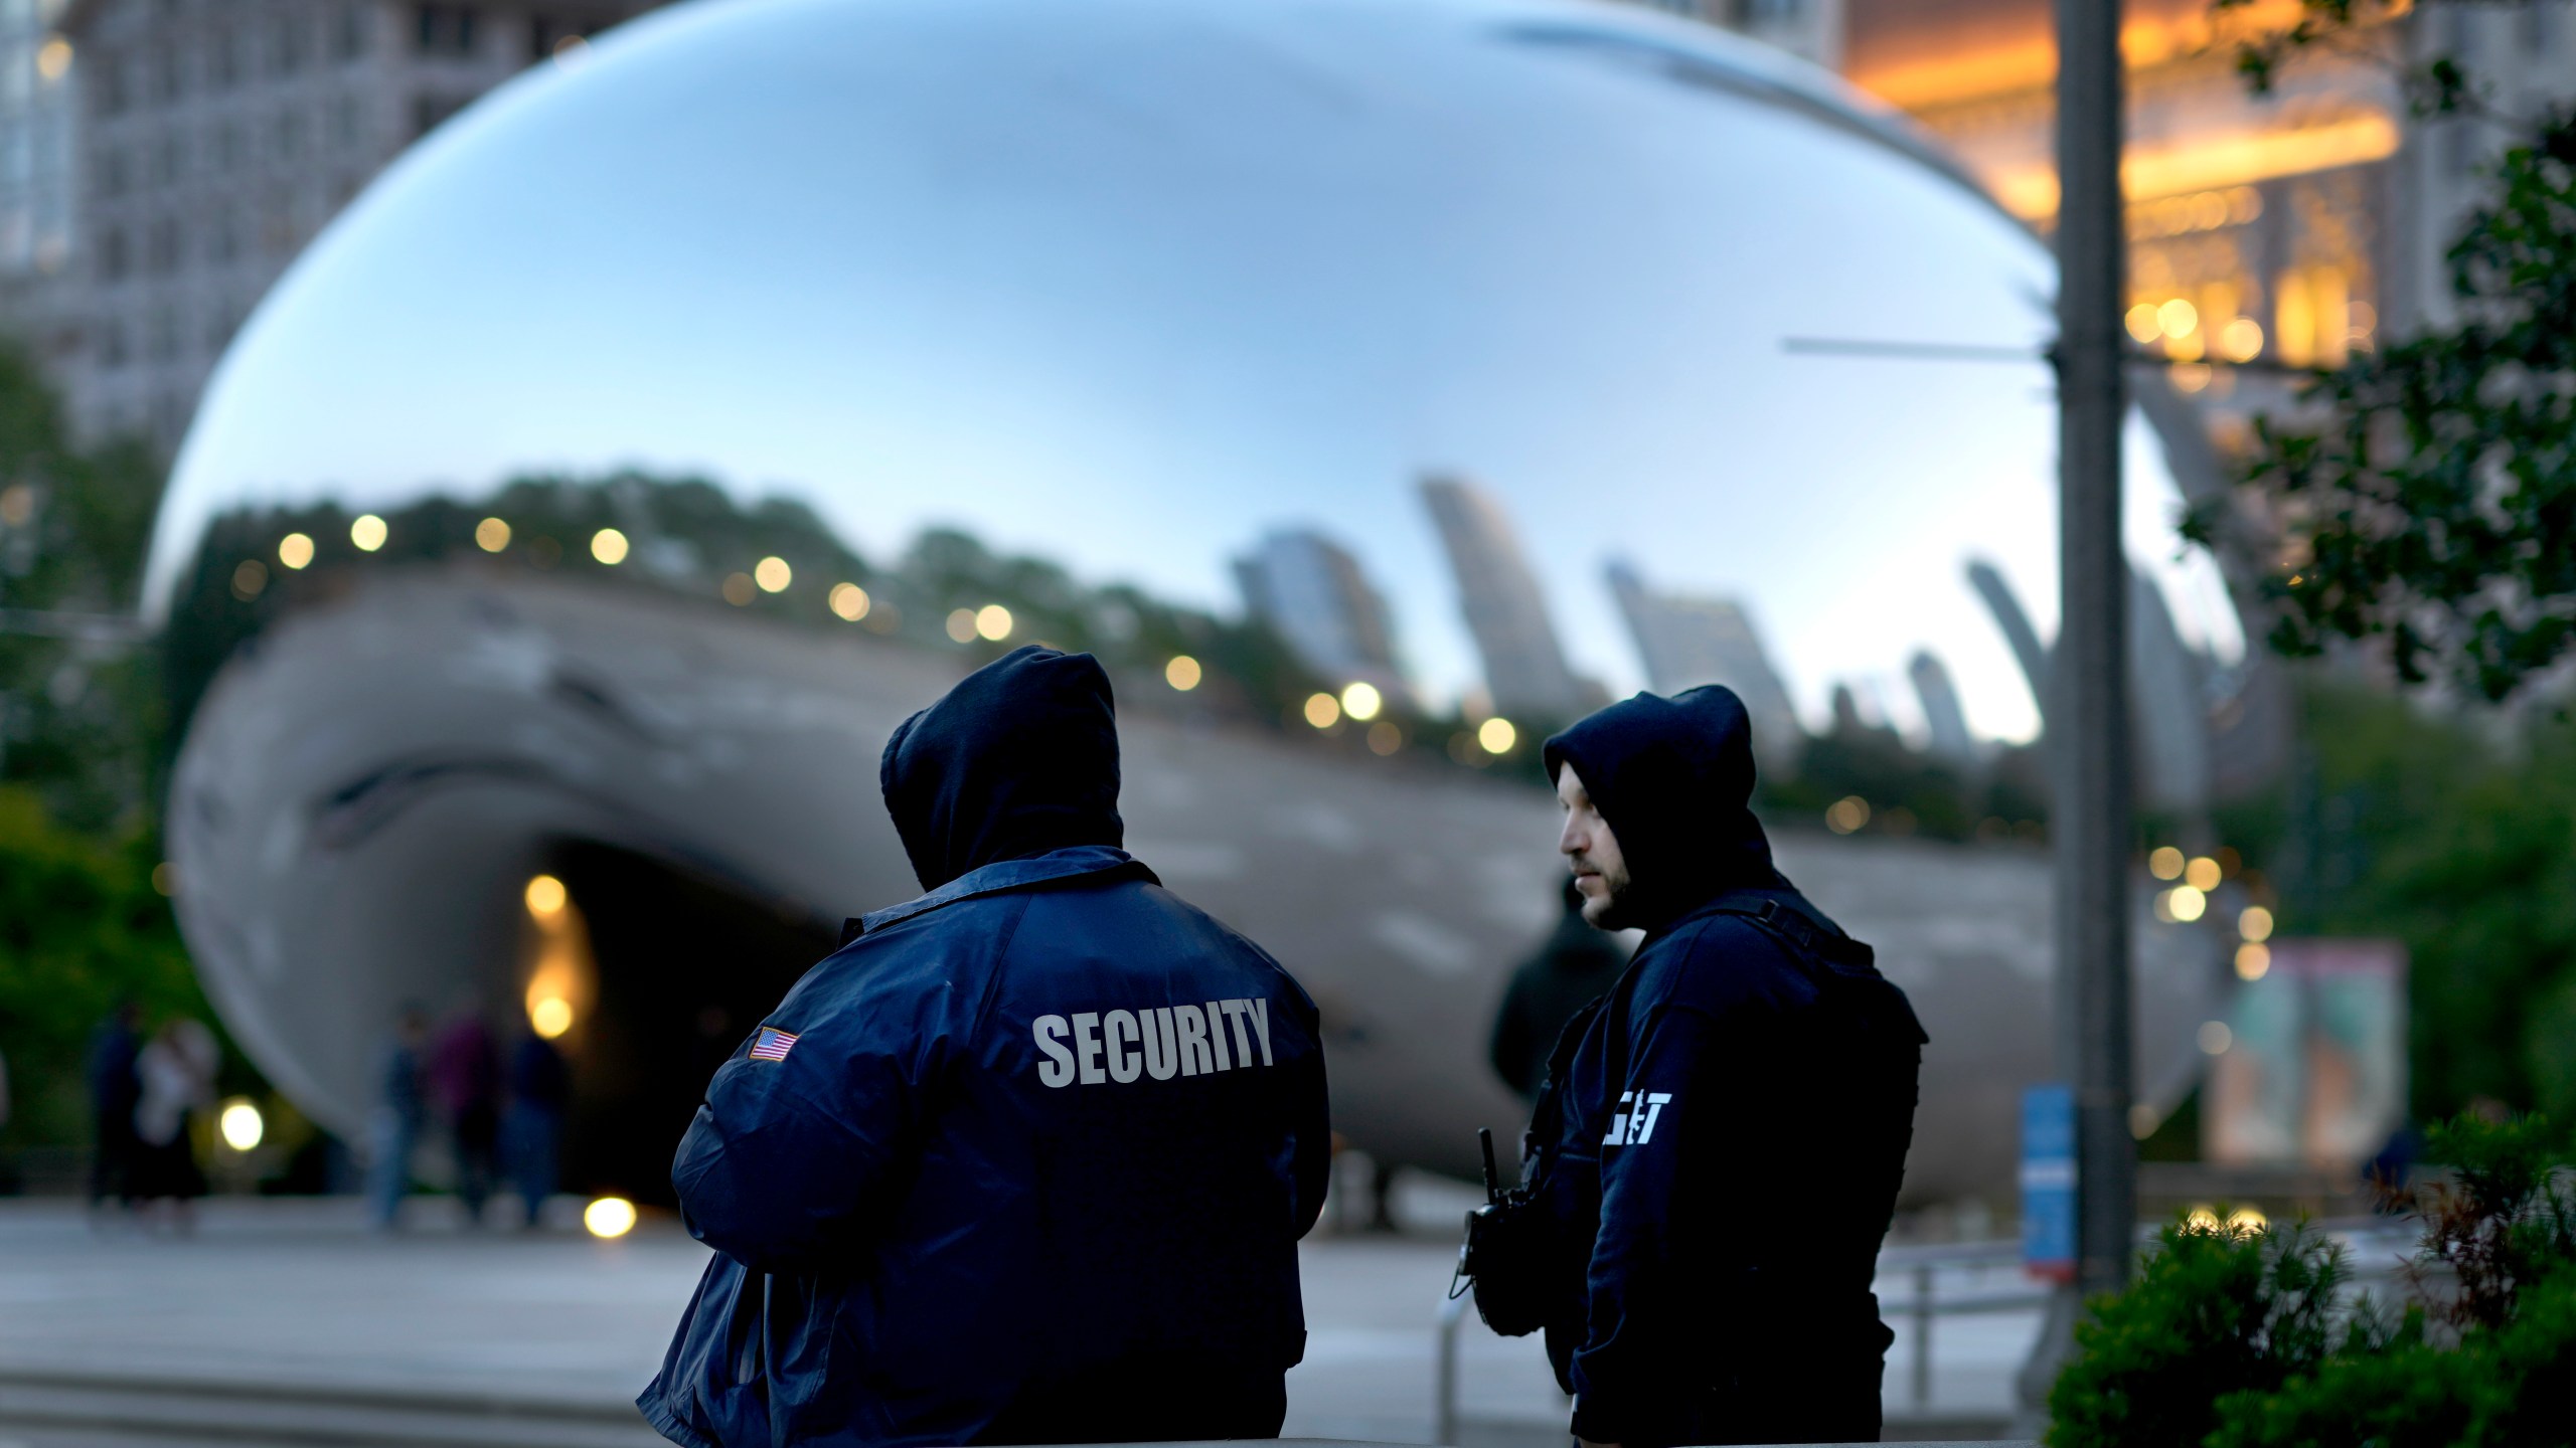
<instances>
[{"instance_id":1,"label":"thin grey metal railing behind the right guard and the shrub","mask_svg":"<svg viewBox=\"0 0 2576 1448\"><path fill-rule=\"evenodd\" d=\"M2385 1219L2318 1221L2347 1247L2352 1288L2398 1275L2398 1257L2414 1247L2416 1234L2393 1229ZM2141 1232L2154 1239L2154 1229ZM1888 1247L1878 1255L1880 1319L1906 1319L1906 1407L1924 1412L1932 1407L1932 1322L1940 1317L1973 1317L2002 1311L2035 1311L2048 1306L2048 1283L2017 1281L2014 1286L1971 1286L1942 1291L1942 1278L1971 1273L1996 1273L2022 1265L2020 1242L1960 1242L1955 1247ZM1896 1291L1896 1288L1904 1291ZM1455 1296L1440 1304L1440 1348L1435 1360L1432 1443L1458 1443L1458 1332L1473 1311L1473 1296Z\"/></svg>"}]
</instances>

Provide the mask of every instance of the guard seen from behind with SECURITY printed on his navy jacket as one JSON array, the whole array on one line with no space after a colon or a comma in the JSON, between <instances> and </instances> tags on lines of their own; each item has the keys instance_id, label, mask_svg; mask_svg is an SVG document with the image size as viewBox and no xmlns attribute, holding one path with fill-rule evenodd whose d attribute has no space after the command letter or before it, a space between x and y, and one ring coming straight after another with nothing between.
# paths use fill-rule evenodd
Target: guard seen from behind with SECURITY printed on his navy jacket
<instances>
[{"instance_id":1,"label":"guard seen from behind with SECURITY printed on his navy jacket","mask_svg":"<svg viewBox=\"0 0 2576 1448\"><path fill-rule=\"evenodd\" d=\"M1018 649L886 742L922 881L672 1162L716 1250L644 1417L693 1448L1275 1438L1329 1170L1314 1002L1118 822L1110 685Z\"/></svg>"}]
</instances>

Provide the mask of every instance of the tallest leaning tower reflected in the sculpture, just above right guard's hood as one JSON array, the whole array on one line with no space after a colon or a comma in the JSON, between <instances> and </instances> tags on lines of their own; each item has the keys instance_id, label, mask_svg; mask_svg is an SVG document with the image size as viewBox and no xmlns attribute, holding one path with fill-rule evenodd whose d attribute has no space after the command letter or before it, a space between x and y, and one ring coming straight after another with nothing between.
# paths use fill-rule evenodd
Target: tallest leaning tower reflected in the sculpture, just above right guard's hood
<instances>
[{"instance_id":1,"label":"tallest leaning tower reflected in the sculpture, just above right guard's hood","mask_svg":"<svg viewBox=\"0 0 2576 1448\"><path fill-rule=\"evenodd\" d=\"M1484 654L1484 688L1494 711L1564 721L1597 709L1602 691L1566 667L1548 600L1502 502L1458 477L1425 477L1422 502L1432 510L1458 577L1458 611Z\"/></svg>"}]
</instances>

